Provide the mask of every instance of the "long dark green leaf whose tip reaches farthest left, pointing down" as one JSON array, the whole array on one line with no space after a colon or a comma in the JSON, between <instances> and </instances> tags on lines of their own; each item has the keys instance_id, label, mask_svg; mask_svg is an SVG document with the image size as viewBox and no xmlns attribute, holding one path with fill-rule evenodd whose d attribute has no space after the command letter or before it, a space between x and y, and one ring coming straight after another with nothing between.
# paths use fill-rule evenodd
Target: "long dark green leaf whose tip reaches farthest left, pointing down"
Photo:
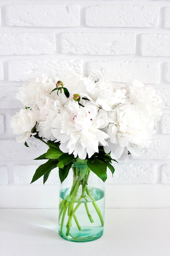
<instances>
[{"instance_id":1,"label":"long dark green leaf whose tip reaches farthest left, pointing down","mask_svg":"<svg viewBox=\"0 0 170 256\"><path fill-rule=\"evenodd\" d=\"M31 183L35 182L35 180L38 180L44 174L48 173L53 168L57 167L57 163L58 163L57 161L48 160L45 164L40 165L35 171L35 174L33 175L33 179Z\"/></svg>"}]
</instances>

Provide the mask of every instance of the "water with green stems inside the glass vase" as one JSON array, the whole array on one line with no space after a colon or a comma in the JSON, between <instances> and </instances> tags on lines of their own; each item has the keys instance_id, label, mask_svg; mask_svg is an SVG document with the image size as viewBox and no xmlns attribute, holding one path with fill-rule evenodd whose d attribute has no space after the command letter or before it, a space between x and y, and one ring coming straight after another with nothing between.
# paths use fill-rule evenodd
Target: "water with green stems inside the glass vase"
<instances>
[{"instance_id":1,"label":"water with green stems inside the glass vase","mask_svg":"<svg viewBox=\"0 0 170 256\"><path fill-rule=\"evenodd\" d=\"M89 189L89 196L69 200L69 189L60 191L59 234L66 240L86 242L99 238L104 229L104 191Z\"/></svg>"}]
</instances>

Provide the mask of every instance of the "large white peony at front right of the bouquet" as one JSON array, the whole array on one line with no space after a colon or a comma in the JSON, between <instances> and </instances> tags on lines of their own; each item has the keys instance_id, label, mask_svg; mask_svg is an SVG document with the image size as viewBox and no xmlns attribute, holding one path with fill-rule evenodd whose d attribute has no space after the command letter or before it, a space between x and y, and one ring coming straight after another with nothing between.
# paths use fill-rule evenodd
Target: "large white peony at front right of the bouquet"
<instances>
[{"instance_id":1,"label":"large white peony at front right of the bouquet","mask_svg":"<svg viewBox=\"0 0 170 256\"><path fill-rule=\"evenodd\" d=\"M137 106L122 105L110 113L110 124L107 129L110 137L108 146L104 147L113 159L119 159L128 151L141 155L141 149L150 145L151 135L155 132L155 123L145 116Z\"/></svg>"}]
</instances>

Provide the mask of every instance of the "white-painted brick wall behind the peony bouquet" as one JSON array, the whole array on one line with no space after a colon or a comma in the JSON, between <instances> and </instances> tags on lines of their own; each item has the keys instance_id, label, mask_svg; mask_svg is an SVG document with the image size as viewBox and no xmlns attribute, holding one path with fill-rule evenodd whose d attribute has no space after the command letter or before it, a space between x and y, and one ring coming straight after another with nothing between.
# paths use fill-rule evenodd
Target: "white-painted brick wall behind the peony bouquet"
<instances>
[{"instance_id":1,"label":"white-painted brick wall behind the peony bouquet","mask_svg":"<svg viewBox=\"0 0 170 256\"><path fill-rule=\"evenodd\" d=\"M164 184L170 189L170 0L141 2L0 1L0 185L13 191L11 200L16 187L22 194L32 186L32 175L41 164L33 158L46 151L40 141L31 140L29 148L16 143L9 125L22 107L15 98L22 81L42 73L54 80L58 75L91 74L95 79L109 76L129 82L136 78L152 84L163 98L157 133L143 157L117 165L113 178L108 174L107 185L121 186L122 193L136 186L144 191L149 184L155 191ZM58 181L53 170L45 186ZM34 191L41 184L42 180L33 184ZM10 207L10 200L4 205ZM146 205L152 207L152 202Z\"/></svg>"}]
</instances>

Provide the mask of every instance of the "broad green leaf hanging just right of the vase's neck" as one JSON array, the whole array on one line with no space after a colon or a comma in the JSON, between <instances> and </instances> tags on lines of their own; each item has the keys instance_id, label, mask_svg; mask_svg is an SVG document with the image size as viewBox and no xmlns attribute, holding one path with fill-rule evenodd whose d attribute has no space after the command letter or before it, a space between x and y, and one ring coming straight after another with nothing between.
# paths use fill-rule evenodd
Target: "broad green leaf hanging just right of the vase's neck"
<instances>
[{"instance_id":1,"label":"broad green leaf hanging just right of the vase's neck","mask_svg":"<svg viewBox=\"0 0 170 256\"><path fill-rule=\"evenodd\" d=\"M95 173L100 179L103 180L103 182L107 179L107 164L102 162L101 160L95 159L95 160L88 160L87 166Z\"/></svg>"}]
</instances>

